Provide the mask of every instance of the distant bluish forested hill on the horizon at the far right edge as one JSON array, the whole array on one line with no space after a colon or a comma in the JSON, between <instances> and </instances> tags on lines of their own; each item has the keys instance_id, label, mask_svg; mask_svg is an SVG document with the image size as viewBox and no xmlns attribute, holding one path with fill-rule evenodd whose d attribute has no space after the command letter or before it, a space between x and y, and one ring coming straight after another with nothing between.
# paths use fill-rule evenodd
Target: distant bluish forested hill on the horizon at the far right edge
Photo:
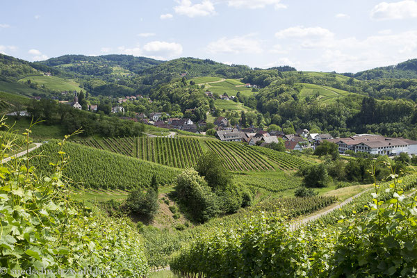
<instances>
[{"instance_id":1,"label":"distant bluish forested hill on the horizon at the far right edge","mask_svg":"<svg viewBox=\"0 0 417 278\"><path fill-rule=\"evenodd\" d=\"M349 75L349 74L347 74ZM376 67L373 70L366 70L352 74L352 77L361 80L370 79L416 79L417 78L417 59L407 60L398 65L388 67Z\"/></svg>"}]
</instances>

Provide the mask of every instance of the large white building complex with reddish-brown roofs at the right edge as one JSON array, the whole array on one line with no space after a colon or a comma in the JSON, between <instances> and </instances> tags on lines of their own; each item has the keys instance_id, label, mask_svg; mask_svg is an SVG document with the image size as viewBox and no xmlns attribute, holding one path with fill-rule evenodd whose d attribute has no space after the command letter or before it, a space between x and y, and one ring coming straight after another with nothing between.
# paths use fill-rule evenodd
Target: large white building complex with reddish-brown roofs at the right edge
<instances>
[{"instance_id":1,"label":"large white building complex with reddish-brown roofs at the right edge","mask_svg":"<svg viewBox=\"0 0 417 278\"><path fill-rule=\"evenodd\" d=\"M386 138L379 135L360 134L327 141L336 143L341 154L347 150L366 152L368 154L386 154L389 156L396 156L402 152L417 154L417 141L404 138Z\"/></svg>"}]
</instances>

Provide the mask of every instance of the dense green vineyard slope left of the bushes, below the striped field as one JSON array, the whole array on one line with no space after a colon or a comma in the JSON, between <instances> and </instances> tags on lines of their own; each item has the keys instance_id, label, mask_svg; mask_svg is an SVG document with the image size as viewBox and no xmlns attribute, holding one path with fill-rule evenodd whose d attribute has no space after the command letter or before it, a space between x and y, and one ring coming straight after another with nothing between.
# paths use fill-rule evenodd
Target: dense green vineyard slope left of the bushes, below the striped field
<instances>
[{"instance_id":1,"label":"dense green vineyard slope left of the bushes, below the striped field","mask_svg":"<svg viewBox=\"0 0 417 278\"><path fill-rule=\"evenodd\" d=\"M31 165L38 167L42 173L49 174L58 160L58 140L50 140L31 154ZM85 147L73 142L67 142L63 152L69 156L68 165L63 175L70 179L75 187L132 190L146 188L152 176L158 183L170 185L174 183L179 170L158 165L136 158L114 154L92 147ZM42 154L42 156L36 156Z\"/></svg>"}]
</instances>

